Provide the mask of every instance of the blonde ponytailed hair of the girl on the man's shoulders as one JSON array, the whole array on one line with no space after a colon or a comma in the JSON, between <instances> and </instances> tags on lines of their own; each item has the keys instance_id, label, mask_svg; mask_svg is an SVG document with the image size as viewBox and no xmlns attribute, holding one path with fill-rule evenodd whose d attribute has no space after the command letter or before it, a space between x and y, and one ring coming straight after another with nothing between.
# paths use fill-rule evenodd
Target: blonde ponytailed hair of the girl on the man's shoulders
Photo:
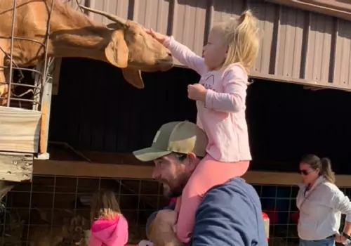
<instances>
[{"instance_id":1,"label":"blonde ponytailed hair of the girl on the man's shoulders","mask_svg":"<svg viewBox=\"0 0 351 246\"><path fill-rule=\"evenodd\" d=\"M249 72L255 65L260 48L257 20L250 10L241 13L238 19L231 18L212 27L223 35L228 46L227 57L222 65L240 63Z\"/></svg>"}]
</instances>

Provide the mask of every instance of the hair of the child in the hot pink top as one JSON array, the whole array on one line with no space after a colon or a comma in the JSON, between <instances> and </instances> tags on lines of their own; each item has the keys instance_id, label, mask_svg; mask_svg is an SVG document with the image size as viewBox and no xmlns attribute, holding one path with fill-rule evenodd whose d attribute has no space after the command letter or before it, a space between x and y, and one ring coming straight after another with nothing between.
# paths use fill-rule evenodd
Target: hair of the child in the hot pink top
<instances>
[{"instance_id":1,"label":"hair of the child in the hot pink top","mask_svg":"<svg viewBox=\"0 0 351 246\"><path fill-rule=\"evenodd\" d=\"M116 195L112 190L98 190L91 202L91 221L97 219L114 219L121 214Z\"/></svg>"}]
</instances>

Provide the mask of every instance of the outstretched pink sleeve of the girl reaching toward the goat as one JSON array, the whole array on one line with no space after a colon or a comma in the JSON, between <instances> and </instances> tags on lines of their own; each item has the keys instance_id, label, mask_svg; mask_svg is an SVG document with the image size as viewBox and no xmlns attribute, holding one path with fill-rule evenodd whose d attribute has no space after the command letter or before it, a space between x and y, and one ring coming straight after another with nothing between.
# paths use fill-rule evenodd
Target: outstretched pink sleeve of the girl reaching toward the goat
<instances>
[{"instance_id":1,"label":"outstretched pink sleeve of the girl reaching toward the goat","mask_svg":"<svg viewBox=\"0 0 351 246\"><path fill-rule=\"evenodd\" d=\"M204 63L204 58L197 56L190 48L180 44L173 36L167 37L164 40L164 46L171 51L172 55L179 60L180 63L195 70L199 75L206 72L207 67Z\"/></svg>"}]
</instances>

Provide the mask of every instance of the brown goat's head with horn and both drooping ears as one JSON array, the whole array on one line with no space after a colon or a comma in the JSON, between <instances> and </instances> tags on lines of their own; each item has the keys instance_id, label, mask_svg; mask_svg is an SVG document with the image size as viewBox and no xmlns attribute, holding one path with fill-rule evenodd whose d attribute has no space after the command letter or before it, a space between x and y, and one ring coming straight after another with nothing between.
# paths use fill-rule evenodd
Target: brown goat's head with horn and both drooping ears
<instances>
[{"instance_id":1,"label":"brown goat's head with horn and both drooping ears","mask_svg":"<svg viewBox=\"0 0 351 246\"><path fill-rule=\"evenodd\" d=\"M140 71L166 71L173 67L171 52L147 34L144 27L137 22L124 20L116 15L86 6L79 6L113 21L107 25L112 30L112 37L105 48L105 56L112 65L122 68L124 78L133 86L139 89L144 88Z\"/></svg>"}]
</instances>

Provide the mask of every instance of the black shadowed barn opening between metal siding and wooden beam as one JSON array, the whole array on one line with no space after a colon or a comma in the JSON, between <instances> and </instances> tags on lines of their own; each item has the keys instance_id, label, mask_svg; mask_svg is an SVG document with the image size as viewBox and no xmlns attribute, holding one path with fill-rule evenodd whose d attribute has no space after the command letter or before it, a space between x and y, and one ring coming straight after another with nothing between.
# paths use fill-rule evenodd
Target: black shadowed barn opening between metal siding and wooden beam
<instances>
[{"instance_id":1,"label":"black shadowed barn opening between metal siding and wooden beam","mask_svg":"<svg viewBox=\"0 0 351 246\"><path fill-rule=\"evenodd\" d=\"M138 90L106 63L63 59L49 140L77 150L131 153L150 145L161 124L195 121L187 84L198 75L175 67L143 78L145 89ZM345 144L351 138L350 93L256 80L246 104L252 169L296 171L302 155L315 153L331 157L338 174L351 174Z\"/></svg>"}]
</instances>

